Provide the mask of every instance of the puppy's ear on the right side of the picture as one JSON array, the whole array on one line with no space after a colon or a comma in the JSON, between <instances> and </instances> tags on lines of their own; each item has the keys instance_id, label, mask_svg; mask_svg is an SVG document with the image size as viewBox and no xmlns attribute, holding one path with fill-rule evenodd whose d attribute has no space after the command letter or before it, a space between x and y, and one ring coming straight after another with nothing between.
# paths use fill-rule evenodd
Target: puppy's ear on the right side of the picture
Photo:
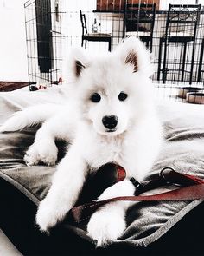
<instances>
[{"instance_id":1,"label":"puppy's ear on the right side of the picture","mask_svg":"<svg viewBox=\"0 0 204 256\"><path fill-rule=\"evenodd\" d=\"M136 37L128 37L119 44L116 53L119 54L124 64L132 66L132 72L143 71L150 76L153 73L150 63L150 52L143 43Z\"/></svg>"}]
</instances>

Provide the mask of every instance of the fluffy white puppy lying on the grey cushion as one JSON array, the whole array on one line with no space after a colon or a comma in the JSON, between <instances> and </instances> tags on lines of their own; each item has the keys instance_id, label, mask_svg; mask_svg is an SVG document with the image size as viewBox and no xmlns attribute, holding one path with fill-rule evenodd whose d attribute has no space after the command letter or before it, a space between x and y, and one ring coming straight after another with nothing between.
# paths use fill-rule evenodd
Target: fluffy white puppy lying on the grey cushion
<instances>
[{"instance_id":1,"label":"fluffy white puppy lying on the grey cushion","mask_svg":"<svg viewBox=\"0 0 204 256\"><path fill-rule=\"evenodd\" d=\"M99 200L133 195L134 177L142 181L158 154L162 131L152 100L149 53L138 39L128 38L105 56L74 52L74 88L66 106L44 105L17 112L1 131L42 122L24 157L27 165L57 160L56 138L71 142L38 208L36 223L48 231L63 220L78 199L88 171L108 162L124 167L126 179L105 189ZM107 204L93 213L87 233L105 246L124 232L125 212L132 202Z\"/></svg>"}]
</instances>

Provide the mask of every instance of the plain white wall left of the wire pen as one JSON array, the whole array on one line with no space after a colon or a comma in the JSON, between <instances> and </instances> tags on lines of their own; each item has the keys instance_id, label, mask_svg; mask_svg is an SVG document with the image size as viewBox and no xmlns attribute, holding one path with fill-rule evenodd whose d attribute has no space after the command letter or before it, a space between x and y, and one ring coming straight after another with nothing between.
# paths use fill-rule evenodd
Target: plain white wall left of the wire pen
<instances>
[{"instance_id":1,"label":"plain white wall left of the wire pen","mask_svg":"<svg viewBox=\"0 0 204 256\"><path fill-rule=\"evenodd\" d=\"M28 81L25 0L0 0L0 81Z\"/></svg>"}]
</instances>

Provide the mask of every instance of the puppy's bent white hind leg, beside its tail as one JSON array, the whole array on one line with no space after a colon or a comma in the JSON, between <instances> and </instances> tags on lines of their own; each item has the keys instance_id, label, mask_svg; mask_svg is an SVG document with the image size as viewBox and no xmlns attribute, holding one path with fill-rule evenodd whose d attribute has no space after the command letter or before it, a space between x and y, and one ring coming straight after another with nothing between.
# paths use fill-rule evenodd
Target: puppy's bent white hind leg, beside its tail
<instances>
[{"instance_id":1,"label":"puppy's bent white hind leg, beside its tail","mask_svg":"<svg viewBox=\"0 0 204 256\"><path fill-rule=\"evenodd\" d=\"M36 132L35 142L24 156L28 166L37 165L39 162L52 166L57 161L58 149L54 140L56 138L66 140L68 135L67 125L58 119L56 117L45 121Z\"/></svg>"}]
</instances>

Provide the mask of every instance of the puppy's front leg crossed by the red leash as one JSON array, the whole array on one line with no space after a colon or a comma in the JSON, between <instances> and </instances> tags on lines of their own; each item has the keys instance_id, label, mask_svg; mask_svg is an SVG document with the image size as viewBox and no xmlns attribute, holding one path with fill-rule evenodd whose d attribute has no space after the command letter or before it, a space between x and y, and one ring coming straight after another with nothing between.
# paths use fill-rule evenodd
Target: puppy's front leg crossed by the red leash
<instances>
[{"instance_id":1,"label":"puppy's front leg crossed by the red leash","mask_svg":"<svg viewBox=\"0 0 204 256\"><path fill-rule=\"evenodd\" d=\"M105 189L99 200L106 200L117 196L134 195L135 187L129 180L116 183ZM87 226L87 232L96 241L97 246L112 243L122 235L125 229L125 213L131 201L116 201L101 207L92 217Z\"/></svg>"}]
</instances>

